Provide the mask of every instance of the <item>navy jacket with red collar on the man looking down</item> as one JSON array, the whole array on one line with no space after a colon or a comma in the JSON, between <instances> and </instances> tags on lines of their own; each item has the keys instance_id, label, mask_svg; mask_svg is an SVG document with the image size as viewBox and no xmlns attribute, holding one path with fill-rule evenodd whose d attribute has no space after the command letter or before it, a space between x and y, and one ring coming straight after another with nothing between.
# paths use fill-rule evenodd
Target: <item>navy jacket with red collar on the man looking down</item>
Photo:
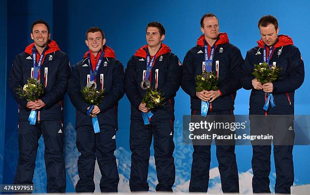
<instances>
[{"instance_id":1,"label":"navy jacket with red collar on the man looking down","mask_svg":"<svg viewBox=\"0 0 310 195\"><path fill-rule=\"evenodd\" d=\"M276 65L282 68L280 79L273 82L276 107L272 108L269 104L267 112L263 110L266 101L263 90L256 90L252 86L252 80L255 78L252 73L254 64L263 62L264 43L259 40L258 46L253 47L247 52L243 67L242 86L245 89L252 89L250 95L250 115L260 114L294 114L294 94L304 80L303 60L299 49L293 45L289 36L280 35L275 43L272 57L269 60L270 65ZM269 47L266 49L269 53Z\"/></svg>"}]
</instances>

